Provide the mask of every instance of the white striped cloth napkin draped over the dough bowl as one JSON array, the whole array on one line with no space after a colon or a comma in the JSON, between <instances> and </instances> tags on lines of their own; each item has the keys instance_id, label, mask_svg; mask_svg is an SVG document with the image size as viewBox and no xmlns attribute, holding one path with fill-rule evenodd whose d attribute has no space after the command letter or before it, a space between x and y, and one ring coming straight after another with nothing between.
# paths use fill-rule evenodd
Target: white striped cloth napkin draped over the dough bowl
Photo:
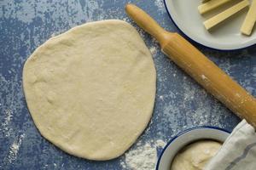
<instances>
[{"instance_id":1,"label":"white striped cloth napkin draped over the dough bowl","mask_svg":"<svg viewBox=\"0 0 256 170\"><path fill-rule=\"evenodd\" d=\"M205 170L256 170L256 133L245 120L226 139Z\"/></svg>"}]
</instances>

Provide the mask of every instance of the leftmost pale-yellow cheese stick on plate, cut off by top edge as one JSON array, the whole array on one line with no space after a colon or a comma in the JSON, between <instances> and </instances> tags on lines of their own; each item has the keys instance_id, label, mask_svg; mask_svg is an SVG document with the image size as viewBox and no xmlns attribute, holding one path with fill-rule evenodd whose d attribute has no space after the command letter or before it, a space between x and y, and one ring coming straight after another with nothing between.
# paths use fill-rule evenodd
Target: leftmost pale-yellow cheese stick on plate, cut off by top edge
<instances>
[{"instance_id":1,"label":"leftmost pale-yellow cheese stick on plate, cut off by top edge","mask_svg":"<svg viewBox=\"0 0 256 170\"><path fill-rule=\"evenodd\" d=\"M214 8L218 8L219 6L223 5L224 3L229 3L232 0L211 0L207 3L203 3L198 7L200 14L205 14L211 11Z\"/></svg>"}]
</instances>

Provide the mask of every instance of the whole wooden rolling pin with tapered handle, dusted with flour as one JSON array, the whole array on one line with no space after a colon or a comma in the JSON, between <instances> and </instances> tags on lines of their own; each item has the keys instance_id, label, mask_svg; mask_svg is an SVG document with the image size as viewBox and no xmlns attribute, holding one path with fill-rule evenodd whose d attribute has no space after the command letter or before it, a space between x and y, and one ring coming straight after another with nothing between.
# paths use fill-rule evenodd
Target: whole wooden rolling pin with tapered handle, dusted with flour
<instances>
[{"instance_id":1,"label":"whole wooden rolling pin with tapered handle, dusted with flour","mask_svg":"<svg viewBox=\"0 0 256 170\"><path fill-rule=\"evenodd\" d=\"M237 116L256 127L256 99L190 42L161 28L143 9L127 4L126 13L160 42L161 50Z\"/></svg>"}]
</instances>

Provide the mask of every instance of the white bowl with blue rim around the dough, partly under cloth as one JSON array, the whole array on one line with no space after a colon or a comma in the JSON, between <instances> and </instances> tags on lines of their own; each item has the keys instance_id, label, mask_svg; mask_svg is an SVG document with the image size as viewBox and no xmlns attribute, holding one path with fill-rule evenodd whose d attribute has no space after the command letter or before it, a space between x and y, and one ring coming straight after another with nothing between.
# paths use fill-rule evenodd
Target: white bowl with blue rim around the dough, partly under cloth
<instances>
[{"instance_id":1,"label":"white bowl with blue rim around the dough, partly under cloth","mask_svg":"<svg viewBox=\"0 0 256 170\"><path fill-rule=\"evenodd\" d=\"M189 128L183 133L179 133L166 144L157 161L156 169L170 170L172 160L177 155L177 152L188 144L204 139L212 139L224 143L229 135L229 132L218 127Z\"/></svg>"}]
</instances>

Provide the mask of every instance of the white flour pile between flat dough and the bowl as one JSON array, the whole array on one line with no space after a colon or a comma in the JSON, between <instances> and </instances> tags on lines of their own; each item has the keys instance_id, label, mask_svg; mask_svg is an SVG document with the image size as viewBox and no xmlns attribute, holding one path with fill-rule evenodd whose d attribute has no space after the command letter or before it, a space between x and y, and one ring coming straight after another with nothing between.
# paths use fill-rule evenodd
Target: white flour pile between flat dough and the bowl
<instances>
[{"instance_id":1,"label":"white flour pile between flat dough and the bowl","mask_svg":"<svg viewBox=\"0 0 256 170\"><path fill-rule=\"evenodd\" d=\"M138 142L136 149L125 153L125 161L121 162L121 166L129 170L153 170L157 161L157 148L163 148L165 145L161 139L146 144Z\"/></svg>"}]
</instances>

